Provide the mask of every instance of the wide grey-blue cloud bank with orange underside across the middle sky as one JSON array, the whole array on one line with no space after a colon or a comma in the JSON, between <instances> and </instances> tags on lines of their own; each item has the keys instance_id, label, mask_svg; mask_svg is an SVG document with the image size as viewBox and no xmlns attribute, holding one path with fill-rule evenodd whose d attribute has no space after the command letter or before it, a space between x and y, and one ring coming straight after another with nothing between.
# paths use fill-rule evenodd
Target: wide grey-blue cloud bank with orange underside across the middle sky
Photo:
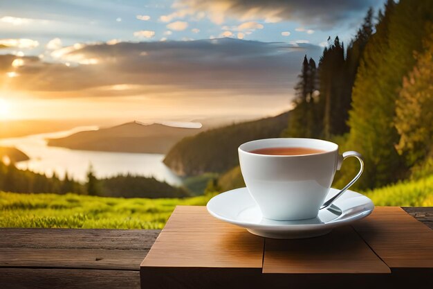
<instances>
[{"instance_id":1,"label":"wide grey-blue cloud bank with orange underside across the middle sky","mask_svg":"<svg viewBox=\"0 0 433 289\"><path fill-rule=\"evenodd\" d=\"M322 48L312 44L234 38L74 44L50 53L55 62L22 58L25 65L14 70L19 77L8 78L8 85L10 89L54 98L163 93L169 97L169 91L208 96L230 90L230 95L286 95L288 102L288 91L297 81L304 55L317 60L321 53ZM0 81L12 71L16 58L0 55ZM133 85L133 91L102 89L122 84Z\"/></svg>"}]
</instances>

